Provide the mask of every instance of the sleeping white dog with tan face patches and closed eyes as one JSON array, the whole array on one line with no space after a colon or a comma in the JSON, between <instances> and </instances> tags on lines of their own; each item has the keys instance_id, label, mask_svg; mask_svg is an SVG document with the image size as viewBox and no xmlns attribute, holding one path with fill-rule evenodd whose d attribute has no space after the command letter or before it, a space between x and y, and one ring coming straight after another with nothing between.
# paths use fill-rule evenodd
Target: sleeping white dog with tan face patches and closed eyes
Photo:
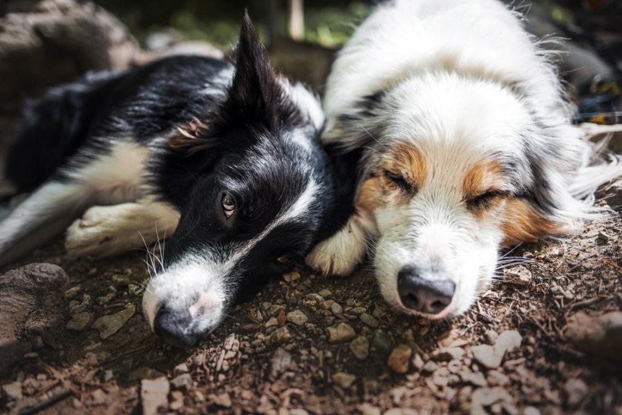
<instances>
[{"instance_id":1,"label":"sleeping white dog with tan face patches and closed eyes","mask_svg":"<svg viewBox=\"0 0 622 415\"><path fill-rule=\"evenodd\" d=\"M464 313L522 241L578 231L622 174L573 108L517 12L496 0L395 0L341 50L323 141L362 151L357 214L307 262L349 273L373 240L384 298L429 318Z\"/></svg>"}]
</instances>

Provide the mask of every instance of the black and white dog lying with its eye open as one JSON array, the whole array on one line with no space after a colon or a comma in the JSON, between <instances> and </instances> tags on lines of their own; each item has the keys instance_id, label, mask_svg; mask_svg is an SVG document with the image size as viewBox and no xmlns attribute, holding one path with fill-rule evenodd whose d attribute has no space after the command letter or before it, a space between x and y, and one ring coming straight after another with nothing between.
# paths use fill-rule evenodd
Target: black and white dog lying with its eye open
<instances>
[{"instance_id":1,"label":"black and white dog lying with its eye open","mask_svg":"<svg viewBox=\"0 0 622 415\"><path fill-rule=\"evenodd\" d=\"M32 193L0 222L0 264L68 225L77 256L174 230L143 308L162 339L194 345L351 213L322 124L247 16L235 66L176 56L56 88L27 108L8 153L7 178Z\"/></svg>"}]
</instances>

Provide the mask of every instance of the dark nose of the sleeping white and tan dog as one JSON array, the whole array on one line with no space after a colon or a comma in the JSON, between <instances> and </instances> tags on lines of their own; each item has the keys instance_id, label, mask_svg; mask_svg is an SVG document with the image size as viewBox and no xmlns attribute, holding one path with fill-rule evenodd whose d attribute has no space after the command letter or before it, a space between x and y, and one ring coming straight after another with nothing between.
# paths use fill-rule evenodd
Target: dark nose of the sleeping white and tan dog
<instances>
[{"instance_id":1,"label":"dark nose of the sleeping white and tan dog","mask_svg":"<svg viewBox=\"0 0 622 415\"><path fill-rule=\"evenodd\" d=\"M426 314L437 314L451 302L455 284L449 280L429 281L414 267L404 267L397 274L397 293L404 307Z\"/></svg>"}]
</instances>

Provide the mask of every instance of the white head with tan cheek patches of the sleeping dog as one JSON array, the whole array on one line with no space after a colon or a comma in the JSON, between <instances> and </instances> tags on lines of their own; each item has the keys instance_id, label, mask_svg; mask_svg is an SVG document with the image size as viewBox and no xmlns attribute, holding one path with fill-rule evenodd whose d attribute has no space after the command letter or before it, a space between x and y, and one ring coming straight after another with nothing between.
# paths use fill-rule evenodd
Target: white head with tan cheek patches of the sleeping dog
<instances>
[{"instance_id":1,"label":"white head with tan cheek patches of the sleeping dog","mask_svg":"<svg viewBox=\"0 0 622 415\"><path fill-rule=\"evenodd\" d=\"M367 97L330 128L366 148L357 197L375 217L382 295L429 318L469 309L500 247L574 231L592 209L578 199L620 171L585 167L578 128L538 119L513 88L442 70Z\"/></svg>"}]
</instances>

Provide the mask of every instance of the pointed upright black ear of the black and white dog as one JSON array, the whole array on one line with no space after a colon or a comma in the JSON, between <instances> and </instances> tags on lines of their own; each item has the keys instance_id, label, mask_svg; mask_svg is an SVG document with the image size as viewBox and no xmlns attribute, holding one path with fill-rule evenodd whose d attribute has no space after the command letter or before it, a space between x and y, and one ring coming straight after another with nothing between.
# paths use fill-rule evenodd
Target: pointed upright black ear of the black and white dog
<instances>
[{"instance_id":1,"label":"pointed upright black ear of the black and white dog","mask_svg":"<svg viewBox=\"0 0 622 415\"><path fill-rule=\"evenodd\" d=\"M256 120L272 129L282 97L283 90L270 66L267 51L245 12L237 47L236 75L225 104L227 112L234 120Z\"/></svg>"}]
</instances>

